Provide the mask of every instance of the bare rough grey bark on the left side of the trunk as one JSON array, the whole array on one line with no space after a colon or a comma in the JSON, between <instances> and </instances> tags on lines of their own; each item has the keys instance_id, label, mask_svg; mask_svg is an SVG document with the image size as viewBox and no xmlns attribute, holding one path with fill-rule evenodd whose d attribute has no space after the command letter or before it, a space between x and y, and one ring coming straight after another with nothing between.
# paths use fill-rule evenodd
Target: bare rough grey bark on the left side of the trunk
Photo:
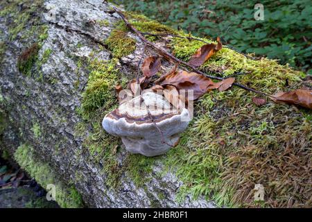
<instances>
[{"instance_id":1,"label":"bare rough grey bark on the left side of the trunk","mask_svg":"<svg viewBox=\"0 0 312 222\"><path fill-rule=\"evenodd\" d=\"M105 185L105 175L99 173L101 166L94 164L87 153L77 155L83 149L83 141L74 133L74 126L81 119L75 110L80 108L89 70L79 69L77 74L74 58L87 59L92 51L98 51L95 57L101 60L112 57L103 42L112 31L110 24L119 17L110 12L109 3L101 0L1 1L0 6L3 12L8 6L13 8L0 18L1 101L6 104L1 105L1 111L7 121L1 132L2 151L5 149L14 155L21 144L31 144L37 160L49 164L64 186L73 182L87 207L214 206L203 198L196 201L186 198L183 203L177 203L175 191L181 183L171 173L153 178L145 185L146 189L136 187L131 178L123 175L119 188L110 189ZM12 36L12 26L18 25L14 22L14 13L31 17L26 23L23 20L16 36ZM96 23L99 20L106 20L108 24L100 26ZM46 33L37 31L36 26L44 26ZM35 62L29 75L21 74L17 68L21 53L45 34L37 60L44 60L46 49L52 50L51 56L40 65ZM77 47L79 43L84 46ZM141 45L137 44L135 53L121 60L125 74L137 70L131 60L138 58L140 51ZM37 134L34 133L36 126L40 128ZM125 151L121 151L121 160L123 155ZM160 169L161 166L156 165L150 175L154 176ZM77 171L83 180L78 180ZM164 193L163 198L157 196L159 190Z\"/></svg>"}]
</instances>

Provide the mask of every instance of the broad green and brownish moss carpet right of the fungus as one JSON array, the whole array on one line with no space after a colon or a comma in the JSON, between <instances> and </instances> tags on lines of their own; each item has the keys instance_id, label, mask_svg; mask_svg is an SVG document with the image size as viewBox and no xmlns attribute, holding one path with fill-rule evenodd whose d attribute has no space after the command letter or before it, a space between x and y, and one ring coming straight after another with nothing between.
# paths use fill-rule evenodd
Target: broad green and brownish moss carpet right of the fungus
<instances>
[{"instance_id":1,"label":"broad green and brownish moss carpet right of the fungus","mask_svg":"<svg viewBox=\"0 0 312 222\"><path fill-rule=\"evenodd\" d=\"M173 38L171 42L175 56L185 61L202 44L181 38ZM248 73L237 76L236 81L269 94L302 86L300 71L265 58L250 60L230 49L218 51L201 67L204 71L207 68L222 71L223 77L239 71ZM208 196L219 205L253 206L256 203L252 199L252 189L256 183L265 187L266 206L285 207L291 195L295 195L295 182L286 182L283 172L277 173L270 167L283 166L289 169L288 175L297 176L291 164L280 160L289 155L284 153L284 148L291 152L292 160L304 163L301 165L309 162L312 129L304 113L311 111L272 102L257 107L251 101L253 96L232 87L226 92L206 94L197 102L195 119L179 146L169 152L165 160L184 182L178 197L191 193L194 198ZM306 136L304 141L299 139L300 135ZM297 147L302 151L297 151ZM309 174L301 173L302 189L306 189L304 184ZM290 192L286 194L278 187ZM295 201L293 206L308 203L299 196Z\"/></svg>"}]
</instances>

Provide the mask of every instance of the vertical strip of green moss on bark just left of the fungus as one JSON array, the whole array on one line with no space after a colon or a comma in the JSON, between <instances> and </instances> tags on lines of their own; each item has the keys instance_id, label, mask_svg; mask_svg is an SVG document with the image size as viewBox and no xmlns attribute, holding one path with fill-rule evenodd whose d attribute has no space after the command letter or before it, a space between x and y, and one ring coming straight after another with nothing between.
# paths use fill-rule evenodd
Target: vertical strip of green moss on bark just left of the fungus
<instances>
[{"instance_id":1,"label":"vertical strip of green moss on bark just left of the fungus","mask_svg":"<svg viewBox=\"0 0 312 222\"><path fill-rule=\"evenodd\" d=\"M77 123L75 128L75 136L84 137L83 146L90 153L92 161L97 164L104 162L101 173L109 175L106 182L111 186L116 186L121 176L116 160L116 151L121 143L116 137L105 133L101 121L103 115L118 104L114 87L119 84L125 87L127 81L117 69L116 62L116 59L88 61L89 80L83 93L82 107L78 110L85 121ZM87 131L89 133L85 135Z\"/></svg>"}]
</instances>

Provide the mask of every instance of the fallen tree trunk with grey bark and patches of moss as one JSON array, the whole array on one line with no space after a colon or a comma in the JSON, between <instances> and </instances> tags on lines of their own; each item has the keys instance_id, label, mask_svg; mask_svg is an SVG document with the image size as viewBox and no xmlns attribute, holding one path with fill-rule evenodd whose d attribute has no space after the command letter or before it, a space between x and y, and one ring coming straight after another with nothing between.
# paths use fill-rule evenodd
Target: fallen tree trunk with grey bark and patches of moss
<instances>
[{"instance_id":1,"label":"fallen tree trunk with grey bark and patches of moss","mask_svg":"<svg viewBox=\"0 0 312 222\"><path fill-rule=\"evenodd\" d=\"M173 31L140 15L128 16L142 31ZM274 103L257 108L252 93L243 89L214 92L198 101L196 119L180 146L161 157L131 155L120 139L103 131L101 119L116 108L114 86L137 76L144 43L110 3L1 1L0 31L1 151L43 187L55 185L62 207L214 207L209 199L252 205L255 184L270 194L270 206L311 204L306 196L311 192L303 185L311 184L309 111ZM202 42L170 44L185 60ZM306 84L299 72L275 61L250 60L229 49L218 55L212 68L225 74L252 71L254 76L239 80L265 92L284 89L286 81L291 87ZM285 159L268 163L272 155ZM277 178L285 176L288 158L306 167L301 178L290 174L302 182L304 197L294 197L300 187L291 184L293 199L286 195L274 202L283 194L271 195L270 176L274 169L279 169Z\"/></svg>"}]
</instances>

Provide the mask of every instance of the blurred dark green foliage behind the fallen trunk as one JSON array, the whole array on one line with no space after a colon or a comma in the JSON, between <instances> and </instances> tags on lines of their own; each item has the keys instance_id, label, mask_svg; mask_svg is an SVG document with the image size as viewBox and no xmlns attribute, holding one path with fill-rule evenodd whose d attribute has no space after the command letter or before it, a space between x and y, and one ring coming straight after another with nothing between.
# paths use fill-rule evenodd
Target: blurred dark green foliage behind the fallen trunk
<instances>
[{"instance_id":1,"label":"blurred dark green foliage behind the fallen trunk","mask_svg":"<svg viewBox=\"0 0 312 222\"><path fill-rule=\"evenodd\" d=\"M224 44L239 51L279 59L312 74L311 0L112 2L193 35L214 39L220 36ZM264 6L263 21L254 19L256 3Z\"/></svg>"}]
</instances>

